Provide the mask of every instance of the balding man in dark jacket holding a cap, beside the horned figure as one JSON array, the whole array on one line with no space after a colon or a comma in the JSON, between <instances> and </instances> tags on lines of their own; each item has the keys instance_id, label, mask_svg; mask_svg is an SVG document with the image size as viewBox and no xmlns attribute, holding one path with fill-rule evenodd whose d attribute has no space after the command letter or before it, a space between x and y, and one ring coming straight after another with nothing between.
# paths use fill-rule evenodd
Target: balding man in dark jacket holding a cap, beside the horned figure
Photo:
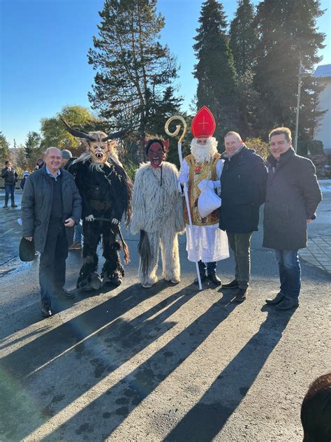
<instances>
[{"instance_id":1,"label":"balding man in dark jacket holding a cap, beside the horned figure","mask_svg":"<svg viewBox=\"0 0 331 442\"><path fill-rule=\"evenodd\" d=\"M64 289L66 258L82 205L75 180L61 169L61 162L61 150L48 148L45 167L27 178L22 196L23 236L34 240L36 250L41 252L39 283L41 314L45 318L52 315L53 296L74 297Z\"/></svg>"}]
</instances>

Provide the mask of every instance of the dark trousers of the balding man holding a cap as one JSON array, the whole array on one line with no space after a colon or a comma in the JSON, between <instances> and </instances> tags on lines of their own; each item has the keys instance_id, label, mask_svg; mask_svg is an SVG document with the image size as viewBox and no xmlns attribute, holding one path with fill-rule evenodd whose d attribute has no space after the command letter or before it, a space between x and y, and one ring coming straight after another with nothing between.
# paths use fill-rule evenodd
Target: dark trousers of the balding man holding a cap
<instances>
[{"instance_id":1,"label":"dark trousers of the balding man holding a cap","mask_svg":"<svg viewBox=\"0 0 331 442\"><path fill-rule=\"evenodd\" d=\"M59 224L50 224L39 264L41 304L51 304L53 292L64 287L67 257L68 241L65 227Z\"/></svg>"}]
</instances>

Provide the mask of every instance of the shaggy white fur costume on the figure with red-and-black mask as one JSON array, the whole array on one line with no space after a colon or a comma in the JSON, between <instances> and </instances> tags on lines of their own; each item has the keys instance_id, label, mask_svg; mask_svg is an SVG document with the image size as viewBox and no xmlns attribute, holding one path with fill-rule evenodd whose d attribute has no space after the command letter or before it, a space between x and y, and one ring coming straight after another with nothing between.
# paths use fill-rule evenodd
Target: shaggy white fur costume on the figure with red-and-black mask
<instances>
[{"instance_id":1,"label":"shaggy white fur costume on the figure with red-and-black mask","mask_svg":"<svg viewBox=\"0 0 331 442\"><path fill-rule=\"evenodd\" d=\"M157 281L160 243L163 278L172 282L180 280L177 236L185 226L184 205L177 189L177 178L177 167L168 162L162 162L158 168L150 163L140 164L135 174L131 232L147 232L152 255L145 274L140 259L139 280L142 285L150 286Z\"/></svg>"}]
</instances>

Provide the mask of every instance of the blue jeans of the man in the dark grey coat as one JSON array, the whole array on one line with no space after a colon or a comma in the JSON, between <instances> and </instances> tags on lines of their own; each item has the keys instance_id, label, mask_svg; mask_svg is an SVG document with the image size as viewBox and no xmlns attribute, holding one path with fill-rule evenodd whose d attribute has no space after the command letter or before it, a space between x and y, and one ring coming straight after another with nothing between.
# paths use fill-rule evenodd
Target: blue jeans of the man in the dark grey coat
<instances>
[{"instance_id":1,"label":"blue jeans of the man in the dark grey coat","mask_svg":"<svg viewBox=\"0 0 331 442\"><path fill-rule=\"evenodd\" d=\"M286 298L297 299L301 288L301 267L298 250L274 250L279 266L281 294Z\"/></svg>"}]
</instances>

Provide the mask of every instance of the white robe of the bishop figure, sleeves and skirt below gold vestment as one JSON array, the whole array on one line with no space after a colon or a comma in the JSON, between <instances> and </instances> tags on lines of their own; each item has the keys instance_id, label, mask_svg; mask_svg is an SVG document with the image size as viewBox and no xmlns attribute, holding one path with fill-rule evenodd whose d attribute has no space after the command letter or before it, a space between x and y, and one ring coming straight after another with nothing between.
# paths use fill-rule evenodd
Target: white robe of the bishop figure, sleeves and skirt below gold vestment
<instances>
[{"instance_id":1,"label":"white robe of the bishop figure, sleeves and skirt below gold vestment","mask_svg":"<svg viewBox=\"0 0 331 442\"><path fill-rule=\"evenodd\" d=\"M223 169L223 161L219 160L216 163L216 177L217 177L217 193L221 193L221 173ZM179 171L179 183L189 181L190 167L186 160L183 160L183 165ZM194 243L191 235L191 229L188 224L186 228L186 251L189 261L195 262L196 257L194 253ZM219 223L209 226L193 225L193 236L196 242L196 255L198 261L214 262L221 261L229 257L228 236L226 232L219 229Z\"/></svg>"}]
</instances>

